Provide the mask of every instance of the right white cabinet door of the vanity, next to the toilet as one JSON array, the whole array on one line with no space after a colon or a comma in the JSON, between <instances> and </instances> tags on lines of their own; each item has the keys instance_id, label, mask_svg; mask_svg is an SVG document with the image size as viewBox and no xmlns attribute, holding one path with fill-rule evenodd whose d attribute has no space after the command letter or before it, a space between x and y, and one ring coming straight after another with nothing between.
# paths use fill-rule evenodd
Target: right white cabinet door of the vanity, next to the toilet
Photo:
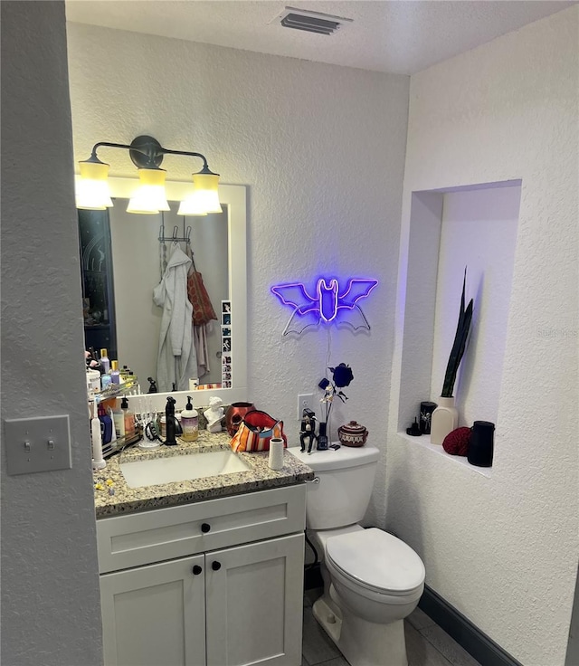
<instances>
[{"instance_id":1,"label":"right white cabinet door of the vanity, next to the toilet","mask_svg":"<svg viewBox=\"0 0 579 666\"><path fill-rule=\"evenodd\" d=\"M301 664L303 534L205 555L207 666Z\"/></svg>"}]
</instances>

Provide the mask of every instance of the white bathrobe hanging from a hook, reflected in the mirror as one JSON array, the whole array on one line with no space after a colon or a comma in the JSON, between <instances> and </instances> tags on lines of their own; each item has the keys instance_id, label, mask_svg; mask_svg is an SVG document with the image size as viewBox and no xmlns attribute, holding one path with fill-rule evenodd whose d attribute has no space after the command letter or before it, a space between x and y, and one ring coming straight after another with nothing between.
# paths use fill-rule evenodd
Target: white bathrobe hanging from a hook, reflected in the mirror
<instances>
[{"instance_id":1,"label":"white bathrobe hanging from a hook, reflected in the mirror","mask_svg":"<svg viewBox=\"0 0 579 666\"><path fill-rule=\"evenodd\" d=\"M177 243L167 262L163 279L153 290L153 300L163 308L157 385L159 391L189 388L189 377L197 376L197 356L193 338L193 306L187 298L187 271L191 260Z\"/></svg>"}]
</instances>

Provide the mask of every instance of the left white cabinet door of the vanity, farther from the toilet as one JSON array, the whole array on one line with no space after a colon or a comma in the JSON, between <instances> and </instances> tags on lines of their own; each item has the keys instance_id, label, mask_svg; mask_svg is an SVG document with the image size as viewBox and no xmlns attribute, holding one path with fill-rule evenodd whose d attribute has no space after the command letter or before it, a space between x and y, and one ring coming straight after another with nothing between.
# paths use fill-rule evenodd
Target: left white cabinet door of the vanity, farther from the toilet
<instances>
[{"instance_id":1,"label":"left white cabinet door of the vanity, farther from the toilet","mask_svg":"<svg viewBox=\"0 0 579 666\"><path fill-rule=\"evenodd\" d=\"M105 666L204 666L204 568L197 555L100 576Z\"/></svg>"}]
</instances>

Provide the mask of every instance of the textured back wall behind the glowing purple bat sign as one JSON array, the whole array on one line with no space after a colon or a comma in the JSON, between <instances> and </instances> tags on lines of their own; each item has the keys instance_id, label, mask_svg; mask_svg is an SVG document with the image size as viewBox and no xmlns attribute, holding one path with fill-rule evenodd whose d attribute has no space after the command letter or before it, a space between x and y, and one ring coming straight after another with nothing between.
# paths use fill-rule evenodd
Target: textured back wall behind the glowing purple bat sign
<instances>
[{"instance_id":1,"label":"textured back wall behind the glowing purple bat sign","mask_svg":"<svg viewBox=\"0 0 579 666\"><path fill-rule=\"evenodd\" d=\"M369 275L370 333L335 330L329 364L355 380L333 429L365 423L384 449L409 81L199 43L69 24L74 151L149 133L203 152L224 183L247 185L249 376L259 407L293 441L297 395L317 388L327 334L281 338L289 310L272 284ZM114 176L135 176L125 152L100 153ZM166 157L169 178L196 163ZM384 487L384 467L377 483ZM384 491L375 512L384 519Z\"/></svg>"}]
</instances>

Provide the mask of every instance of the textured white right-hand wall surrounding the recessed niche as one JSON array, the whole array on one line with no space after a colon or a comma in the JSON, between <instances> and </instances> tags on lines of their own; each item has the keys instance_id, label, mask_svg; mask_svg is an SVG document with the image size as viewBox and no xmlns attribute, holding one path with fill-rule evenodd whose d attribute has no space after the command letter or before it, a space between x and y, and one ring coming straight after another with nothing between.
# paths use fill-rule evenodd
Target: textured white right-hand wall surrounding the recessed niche
<instances>
[{"instance_id":1,"label":"textured white right-hand wall surrounding the recessed niche","mask_svg":"<svg viewBox=\"0 0 579 666\"><path fill-rule=\"evenodd\" d=\"M565 661L579 557L578 28L574 6L413 76L410 92L387 526L421 554L427 583L526 666ZM403 331L410 208L415 191L517 178L486 478L394 433L406 333L415 343Z\"/></svg>"}]
</instances>

